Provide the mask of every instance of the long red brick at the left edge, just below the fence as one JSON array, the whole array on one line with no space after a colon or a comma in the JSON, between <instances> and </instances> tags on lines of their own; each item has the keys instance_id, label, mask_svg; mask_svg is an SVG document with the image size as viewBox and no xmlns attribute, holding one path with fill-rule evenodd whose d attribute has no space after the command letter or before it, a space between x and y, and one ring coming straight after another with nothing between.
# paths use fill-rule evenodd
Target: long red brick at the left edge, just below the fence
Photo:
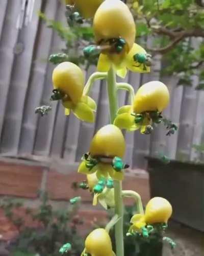
<instances>
[{"instance_id":1,"label":"long red brick at the left edge, just below the fence","mask_svg":"<svg viewBox=\"0 0 204 256\"><path fill-rule=\"evenodd\" d=\"M43 167L0 161L0 195L36 198Z\"/></svg>"}]
</instances>

